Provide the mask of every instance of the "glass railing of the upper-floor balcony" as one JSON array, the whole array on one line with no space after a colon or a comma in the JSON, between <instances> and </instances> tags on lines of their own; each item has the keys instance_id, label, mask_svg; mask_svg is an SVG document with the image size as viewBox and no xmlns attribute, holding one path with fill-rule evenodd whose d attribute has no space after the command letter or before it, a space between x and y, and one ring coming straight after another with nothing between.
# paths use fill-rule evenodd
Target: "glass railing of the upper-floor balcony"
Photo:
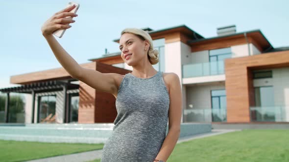
<instances>
[{"instance_id":1,"label":"glass railing of the upper-floor balcony","mask_svg":"<svg viewBox=\"0 0 289 162\"><path fill-rule=\"evenodd\" d=\"M183 78L224 74L224 61L211 61L182 65Z\"/></svg>"}]
</instances>

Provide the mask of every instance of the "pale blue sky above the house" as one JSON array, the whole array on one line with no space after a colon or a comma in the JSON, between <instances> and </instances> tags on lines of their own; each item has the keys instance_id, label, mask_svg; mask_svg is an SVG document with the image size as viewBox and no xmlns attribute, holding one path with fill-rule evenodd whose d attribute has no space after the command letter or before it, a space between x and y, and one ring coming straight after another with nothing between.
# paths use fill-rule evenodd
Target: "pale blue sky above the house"
<instances>
[{"instance_id":1,"label":"pale blue sky above the house","mask_svg":"<svg viewBox=\"0 0 289 162\"><path fill-rule=\"evenodd\" d=\"M42 24L70 0L0 0L0 88L10 76L61 67L41 34ZM289 46L289 0L74 0L76 22L57 40L78 63L119 52L126 27L154 30L185 24L205 38L217 27L260 29L273 47Z\"/></svg>"}]
</instances>

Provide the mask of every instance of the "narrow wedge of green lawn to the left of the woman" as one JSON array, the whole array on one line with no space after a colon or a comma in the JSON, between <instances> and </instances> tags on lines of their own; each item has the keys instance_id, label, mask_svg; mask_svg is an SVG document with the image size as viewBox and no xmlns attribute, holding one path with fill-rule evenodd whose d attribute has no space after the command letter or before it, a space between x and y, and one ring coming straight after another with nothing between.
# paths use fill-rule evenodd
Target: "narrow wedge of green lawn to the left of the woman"
<instances>
[{"instance_id":1,"label":"narrow wedge of green lawn to the left of the woman","mask_svg":"<svg viewBox=\"0 0 289 162\"><path fill-rule=\"evenodd\" d=\"M46 143L0 140L0 161L19 162L102 149L104 144Z\"/></svg>"}]
</instances>

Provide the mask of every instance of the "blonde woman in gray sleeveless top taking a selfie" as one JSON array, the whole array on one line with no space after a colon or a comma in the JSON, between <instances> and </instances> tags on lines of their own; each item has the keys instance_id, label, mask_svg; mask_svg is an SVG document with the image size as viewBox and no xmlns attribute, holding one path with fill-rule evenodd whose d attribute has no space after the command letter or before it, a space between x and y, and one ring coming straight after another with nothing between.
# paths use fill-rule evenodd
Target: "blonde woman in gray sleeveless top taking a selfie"
<instances>
[{"instance_id":1,"label":"blonde woman in gray sleeveless top taking a selfie","mask_svg":"<svg viewBox=\"0 0 289 162\"><path fill-rule=\"evenodd\" d=\"M118 115L113 133L104 144L101 162L166 162L180 134L182 93L175 73L156 71L159 61L152 39L144 30L128 28L121 32L120 51L131 73L100 73L81 67L51 34L68 29L76 17L74 6L55 13L42 26L42 34L56 59L79 81L116 98ZM166 136L169 118L169 131Z\"/></svg>"}]
</instances>

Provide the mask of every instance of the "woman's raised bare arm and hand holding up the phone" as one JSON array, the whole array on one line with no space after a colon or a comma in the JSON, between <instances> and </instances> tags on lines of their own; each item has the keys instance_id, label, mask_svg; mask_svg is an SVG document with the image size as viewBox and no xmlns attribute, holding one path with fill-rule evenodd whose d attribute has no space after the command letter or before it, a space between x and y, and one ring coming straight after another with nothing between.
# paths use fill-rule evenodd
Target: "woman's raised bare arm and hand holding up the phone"
<instances>
[{"instance_id":1,"label":"woman's raised bare arm and hand holding up the phone","mask_svg":"<svg viewBox=\"0 0 289 162\"><path fill-rule=\"evenodd\" d=\"M68 29L69 23L73 23L72 19L65 17L75 17L76 14L70 13L69 11L75 6L71 6L55 13L50 19L48 19L41 28L42 35L48 42L54 56L63 66L63 68L72 76L79 81L86 83L87 85L107 93L116 94L117 84L116 80L121 77L115 73L100 73L96 70L86 69L81 67L59 44L59 42L51 34L57 29Z\"/></svg>"}]
</instances>

